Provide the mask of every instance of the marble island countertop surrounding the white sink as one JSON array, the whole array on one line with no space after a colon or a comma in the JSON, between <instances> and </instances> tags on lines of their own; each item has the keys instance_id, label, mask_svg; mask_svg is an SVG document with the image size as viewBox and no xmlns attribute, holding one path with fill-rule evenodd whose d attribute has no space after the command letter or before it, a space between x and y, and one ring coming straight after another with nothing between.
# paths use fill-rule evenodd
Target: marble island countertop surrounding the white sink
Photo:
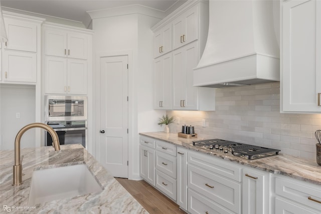
<instances>
[{"instance_id":1,"label":"marble island countertop surrounding the white sink","mask_svg":"<svg viewBox=\"0 0 321 214\"><path fill-rule=\"evenodd\" d=\"M0 151L0 212L9 213L148 213L112 175L80 144L21 149L23 183L13 186L14 150ZM103 187L101 192L28 204L32 173L43 168L86 164Z\"/></svg>"}]
</instances>

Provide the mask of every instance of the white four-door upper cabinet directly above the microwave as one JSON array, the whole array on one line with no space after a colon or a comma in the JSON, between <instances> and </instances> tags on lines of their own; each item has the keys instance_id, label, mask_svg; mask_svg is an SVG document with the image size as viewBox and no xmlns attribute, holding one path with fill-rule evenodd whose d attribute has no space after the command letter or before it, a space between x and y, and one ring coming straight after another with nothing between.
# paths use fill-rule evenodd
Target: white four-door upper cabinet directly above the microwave
<instances>
[{"instance_id":1,"label":"white four-door upper cabinet directly above the microwave","mask_svg":"<svg viewBox=\"0 0 321 214\"><path fill-rule=\"evenodd\" d=\"M44 81L46 94L87 94L92 71L92 31L46 23Z\"/></svg>"}]
</instances>

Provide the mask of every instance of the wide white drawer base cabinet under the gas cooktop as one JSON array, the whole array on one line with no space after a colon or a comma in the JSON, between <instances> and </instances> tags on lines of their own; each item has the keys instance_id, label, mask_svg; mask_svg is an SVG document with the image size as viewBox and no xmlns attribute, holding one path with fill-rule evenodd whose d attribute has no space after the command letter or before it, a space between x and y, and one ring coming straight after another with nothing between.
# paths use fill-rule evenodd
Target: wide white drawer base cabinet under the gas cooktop
<instances>
[{"instance_id":1,"label":"wide white drawer base cabinet under the gas cooktop","mask_svg":"<svg viewBox=\"0 0 321 214\"><path fill-rule=\"evenodd\" d=\"M215 204L210 206L220 213L217 204L230 213L241 213L241 168L199 152L188 153L188 188L200 193ZM188 195L191 201L191 195ZM188 211L192 212L191 204ZM228 213L228 212L227 212Z\"/></svg>"}]
</instances>

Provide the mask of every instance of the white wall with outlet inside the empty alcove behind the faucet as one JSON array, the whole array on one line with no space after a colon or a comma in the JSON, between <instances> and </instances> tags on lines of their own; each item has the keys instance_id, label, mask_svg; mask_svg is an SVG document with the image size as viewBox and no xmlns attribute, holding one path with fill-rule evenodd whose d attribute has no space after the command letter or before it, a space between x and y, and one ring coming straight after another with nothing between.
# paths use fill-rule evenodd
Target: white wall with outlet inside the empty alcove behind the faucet
<instances>
[{"instance_id":1,"label":"white wall with outlet inside the empty alcove behind the faucet","mask_svg":"<svg viewBox=\"0 0 321 214\"><path fill-rule=\"evenodd\" d=\"M1 142L0 150L15 148L18 131L35 122L35 87L0 85ZM20 113L20 118L16 118ZM35 147L36 129L28 130L21 139L21 148Z\"/></svg>"}]
</instances>

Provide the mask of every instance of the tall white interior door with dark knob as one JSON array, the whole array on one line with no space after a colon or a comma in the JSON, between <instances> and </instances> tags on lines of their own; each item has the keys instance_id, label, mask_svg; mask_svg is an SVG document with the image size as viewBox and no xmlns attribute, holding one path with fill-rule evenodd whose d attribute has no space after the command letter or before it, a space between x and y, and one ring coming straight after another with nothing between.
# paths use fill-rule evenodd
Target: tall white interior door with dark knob
<instances>
[{"instance_id":1,"label":"tall white interior door with dark knob","mask_svg":"<svg viewBox=\"0 0 321 214\"><path fill-rule=\"evenodd\" d=\"M128 57L100 61L100 163L128 178Z\"/></svg>"}]
</instances>

